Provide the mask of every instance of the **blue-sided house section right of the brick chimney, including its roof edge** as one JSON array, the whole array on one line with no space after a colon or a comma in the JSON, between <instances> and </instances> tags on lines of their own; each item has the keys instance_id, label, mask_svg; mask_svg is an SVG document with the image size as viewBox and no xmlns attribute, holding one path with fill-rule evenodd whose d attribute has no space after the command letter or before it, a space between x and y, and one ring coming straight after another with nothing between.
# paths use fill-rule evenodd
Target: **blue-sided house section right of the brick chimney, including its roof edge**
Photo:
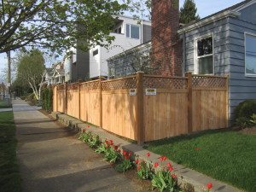
<instances>
[{"instance_id":1,"label":"blue-sided house section right of the brick chimney, including its roof edge","mask_svg":"<svg viewBox=\"0 0 256 192\"><path fill-rule=\"evenodd\" d=\"M247 0L178 30L183 72L230 76L230 119L256 99L256 0Z\"/></svg>"}]
</instances>

